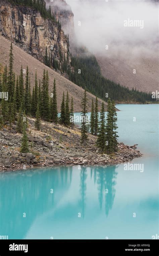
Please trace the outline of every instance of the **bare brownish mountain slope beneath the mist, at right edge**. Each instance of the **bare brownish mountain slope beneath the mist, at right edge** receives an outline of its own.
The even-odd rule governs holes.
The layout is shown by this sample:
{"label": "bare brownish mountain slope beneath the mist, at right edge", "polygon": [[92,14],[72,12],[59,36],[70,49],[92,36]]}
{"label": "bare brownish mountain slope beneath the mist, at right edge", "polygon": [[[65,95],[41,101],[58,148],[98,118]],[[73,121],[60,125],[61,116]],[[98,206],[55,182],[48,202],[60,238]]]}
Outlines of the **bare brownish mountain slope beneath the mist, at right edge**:
{"label": "bare brownish mountain slope beneath the mist, at right edge", "polygon": [[[121,59],[121,57],[109,58],[96,56],[101,67],[102,75],[115,83],[123,86],[133,87],[139,91],[156,91],[158,88],[159,66],[156,57],[132,57]],[[136,74],[133,74],[136,69]]]}

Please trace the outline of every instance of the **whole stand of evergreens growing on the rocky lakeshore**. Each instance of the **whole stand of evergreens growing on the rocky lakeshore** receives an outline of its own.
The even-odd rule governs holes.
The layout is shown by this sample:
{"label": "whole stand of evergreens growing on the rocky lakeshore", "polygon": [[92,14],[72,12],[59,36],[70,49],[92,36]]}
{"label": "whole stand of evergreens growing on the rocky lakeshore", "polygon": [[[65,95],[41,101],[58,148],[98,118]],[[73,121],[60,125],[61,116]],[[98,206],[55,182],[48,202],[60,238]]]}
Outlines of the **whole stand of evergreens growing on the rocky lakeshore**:
{"label": "whole stand of evergreens growing on the rocky lakeshore", "polygon": [[[9,66],[4,67],[4,72],[0,72],[0,91],[2,94],[0,99],[0,128],[9,123],[16,121],[16,130],[18,133],[23,133],[21,152],[29,152],[28,137],[26,129],[28,127],[27,116],[36,118],[35,128],[41,129],[41,120],[60,123],[66,127],[73,128],[74,113],[73,113],[73,98],[69,99],[68,91],[63,92],[61,102],[61,114],[58,118],[57,111],[57,94],[56,81],[54,79],[53,92],[49,95],[49,76],[48,71],[43,71],[42,81],[38,80],[37,73],[35,74],[35,85],[31,92],[31,83],[29,78],[29,69],[27,66],[26,72],[21,66],[19,76],[15,78],[13,70],[14,58],[12,43],[9,53]],[[25,74],[26,73],[26,74]],[[24,77],[25,74],[25,77]],[[5,94],[6,93],[6,94]],[[8,93],[8,95],[7,95]],[[98,99],[96,97],[95,108],[92,99],[91,122],[88,126],[88,99],[85,89],[84,97],[81,99],[82,109],[82,126],[81,126],[81,143],[88,143],[88,132],[98,137],[97,146],[102,152],[112,153],[117,151],[118,137],[115,130],[116,126],[116,109],[115,102],[108,100],[107,124],[105,124],[104,103],[100,113],[100,121],[98,116]],[[108,145],[107,145],[108,143]]]}

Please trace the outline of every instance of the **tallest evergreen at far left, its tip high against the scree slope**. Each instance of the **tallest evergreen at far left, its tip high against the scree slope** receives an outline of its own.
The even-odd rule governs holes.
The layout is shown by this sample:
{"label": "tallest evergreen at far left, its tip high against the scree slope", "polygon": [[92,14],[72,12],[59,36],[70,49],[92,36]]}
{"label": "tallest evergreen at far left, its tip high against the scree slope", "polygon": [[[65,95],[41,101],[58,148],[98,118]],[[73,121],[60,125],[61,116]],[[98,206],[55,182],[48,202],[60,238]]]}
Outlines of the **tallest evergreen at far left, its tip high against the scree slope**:
{"label": "tallest evergreen at far left, its tip high against the scree slope", "polygon": [[14,73],[13,73],[13,46],[12,46],[12,42],[11,42],[11,45],[10,45],[10,53],[9,53],[9,70],[8,70],[8,78],[7,78],[7,91],[8,91],[9,101],[13,102]]}

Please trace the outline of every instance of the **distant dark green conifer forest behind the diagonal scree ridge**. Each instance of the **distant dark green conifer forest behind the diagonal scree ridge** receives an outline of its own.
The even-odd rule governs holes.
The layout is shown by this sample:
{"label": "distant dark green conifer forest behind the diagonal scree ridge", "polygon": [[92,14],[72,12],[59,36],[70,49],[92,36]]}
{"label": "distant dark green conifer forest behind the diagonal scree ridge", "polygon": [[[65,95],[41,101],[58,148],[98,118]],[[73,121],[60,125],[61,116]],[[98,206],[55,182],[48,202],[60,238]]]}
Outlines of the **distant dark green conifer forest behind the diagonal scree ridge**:
{"label": "distant dark green conifer forest behind the diagonal scree ridge", "polygon": [[[107,98],[105,97],[106,93],[108,93],[109,97],[115,101],[135,101],[141,103],[144,103],[145,101],[155,101],[152,99],[151,93],[139,92],[135,89],[130,90],[128,87],[123,87],[104,78],[101,75],[98,62],[93,55],[87,57],[71,56],[71,65],[73,66],[74,71],[67,70],[69,80],[80,87],[87,87],[89,92],[104,101],[107,101]],[[78,74],[78,69],[81,69],[81,74]]]}

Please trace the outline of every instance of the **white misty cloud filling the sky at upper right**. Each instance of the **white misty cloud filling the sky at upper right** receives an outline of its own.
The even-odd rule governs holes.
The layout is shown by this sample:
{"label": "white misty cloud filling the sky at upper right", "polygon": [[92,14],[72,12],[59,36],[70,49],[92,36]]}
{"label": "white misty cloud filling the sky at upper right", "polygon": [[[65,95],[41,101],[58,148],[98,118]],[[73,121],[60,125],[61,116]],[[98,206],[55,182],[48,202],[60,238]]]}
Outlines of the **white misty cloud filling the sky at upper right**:
{"label": "white misty cloud filling the sky at upper right", "polygon": [[[80,45],[93,53],[154,54],[157,50],[158,8],[141,1],[66,0],[74,13]],[[139,20],[139,27],[124,27],[124,21]],[[81,26],[78,26],[79,21]],[[141,27],[141,28],[140,28]]]}

